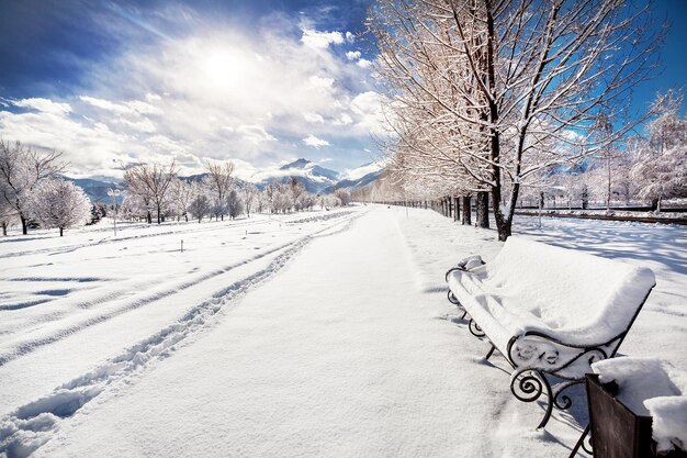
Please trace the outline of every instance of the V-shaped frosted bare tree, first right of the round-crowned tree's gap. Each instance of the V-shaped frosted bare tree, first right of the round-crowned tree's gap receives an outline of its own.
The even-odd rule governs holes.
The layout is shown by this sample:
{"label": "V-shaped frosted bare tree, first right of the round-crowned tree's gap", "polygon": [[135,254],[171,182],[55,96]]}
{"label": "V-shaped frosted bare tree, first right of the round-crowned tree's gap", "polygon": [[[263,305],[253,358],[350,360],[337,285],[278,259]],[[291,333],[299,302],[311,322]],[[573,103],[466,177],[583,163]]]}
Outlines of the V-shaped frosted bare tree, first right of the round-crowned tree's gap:
{"label": "V-shaped frosted bare tree, first right of the round-crowned tree's gap", "polygon": [[[146,204],[150,203],[157,213],[158,224],[162,222],[165,199],[169,197],[168,191],[176,175],[177,166],[173,159],[169,166],[142,164],[124,172],[126,189],[138,196]],[[148,212],[148,224],[151,222],[151,215]]]}

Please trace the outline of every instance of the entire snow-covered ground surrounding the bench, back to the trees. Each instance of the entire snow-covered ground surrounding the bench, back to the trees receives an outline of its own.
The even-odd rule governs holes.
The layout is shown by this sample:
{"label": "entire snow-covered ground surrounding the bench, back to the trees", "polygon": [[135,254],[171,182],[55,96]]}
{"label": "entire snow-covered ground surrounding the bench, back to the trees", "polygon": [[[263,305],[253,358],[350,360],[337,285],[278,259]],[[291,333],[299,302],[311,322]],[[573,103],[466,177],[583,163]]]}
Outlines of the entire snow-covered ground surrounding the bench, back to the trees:
{"label": "entire snow-covered ground surrounding the bench, back to the trees", "polygon": [[[620,353],[687,367],[684,227],[516,232],[652,268]],[[451,264],[499,247],[383,205],[2,238],[0,455],[566,456],[585,401],[536,431],[446,300]]]}

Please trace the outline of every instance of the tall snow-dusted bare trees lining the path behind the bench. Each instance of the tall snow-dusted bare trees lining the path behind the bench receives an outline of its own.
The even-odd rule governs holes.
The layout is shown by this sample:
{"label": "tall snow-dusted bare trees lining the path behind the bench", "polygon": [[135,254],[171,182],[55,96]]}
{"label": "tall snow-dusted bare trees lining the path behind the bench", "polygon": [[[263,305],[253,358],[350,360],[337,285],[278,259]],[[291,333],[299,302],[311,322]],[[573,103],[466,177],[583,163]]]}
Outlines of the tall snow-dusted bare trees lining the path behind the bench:
{"label": "tall snow-dusted bare trees lining the path behind the bench", "polygon": [[[522,193],[539,194],[554,170],[595,157],[612,179],[619,145],[655,114],[626,116],[664,37],[649,7],[633,8],[378,0],[368,25],[390,131],[387,182],[378,191],[477,196],[491,203],[503,241]],[[663,98],[655,104],[665,105]]]}

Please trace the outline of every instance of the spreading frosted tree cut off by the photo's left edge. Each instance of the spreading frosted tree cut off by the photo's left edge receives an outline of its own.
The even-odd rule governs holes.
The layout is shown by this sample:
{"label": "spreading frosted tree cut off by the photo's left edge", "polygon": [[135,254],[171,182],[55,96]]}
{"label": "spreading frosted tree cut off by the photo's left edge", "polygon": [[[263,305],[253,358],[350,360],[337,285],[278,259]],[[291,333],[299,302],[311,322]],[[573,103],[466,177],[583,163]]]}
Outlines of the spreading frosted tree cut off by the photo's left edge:
{"label": "spreading frosted tree cut off by the photo's left edge", "polygon": [[27,201],[34,188],[44,179],[61,172],[66,164],[60,160],[61,153],[55,150],[38,153],[20,142],[13,145],[0,138],[0,200],[16,212],[22,233],[27,233]]}

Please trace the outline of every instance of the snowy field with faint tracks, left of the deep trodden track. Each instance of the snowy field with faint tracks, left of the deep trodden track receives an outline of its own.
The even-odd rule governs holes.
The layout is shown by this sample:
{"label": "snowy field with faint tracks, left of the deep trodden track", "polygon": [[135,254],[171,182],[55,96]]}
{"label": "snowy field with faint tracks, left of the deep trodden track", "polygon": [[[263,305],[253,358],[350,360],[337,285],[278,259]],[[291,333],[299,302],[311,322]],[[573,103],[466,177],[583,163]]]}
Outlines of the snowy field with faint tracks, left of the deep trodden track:
{"label": "snowy field with faint tracks, left of the deep trodden track", "polygon": [[[83,373],[111,370],[103,369],[103,361],[122,358],[134,344],[159,339],[194,313],[211,313],[213,301],[246,291],[277,271],[313,234],[344,227],[354,215],[144,227],[105,239],[108,249],[77,242],[94,238],[98,231],[89,231],[54,241],[58,246],[47,255],[10,258],[0,273],[0,416]],[[299,223],[304,219],[309,221]],[[183,254],[173,249],[179,232],[187,233]],[[44,243],[32,241],[31,246]],[[65,252],[60,244],[71,248]],[[78,281],[85,278],[92,281]],[[61,295],[1,308],[55,291]],[[0,443],[2,436],[0,432]]]}

